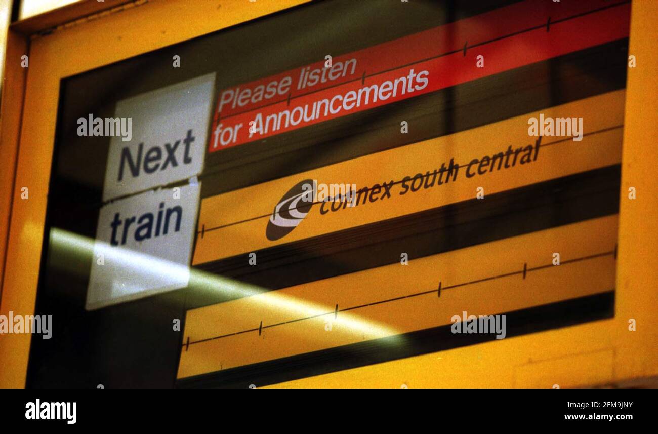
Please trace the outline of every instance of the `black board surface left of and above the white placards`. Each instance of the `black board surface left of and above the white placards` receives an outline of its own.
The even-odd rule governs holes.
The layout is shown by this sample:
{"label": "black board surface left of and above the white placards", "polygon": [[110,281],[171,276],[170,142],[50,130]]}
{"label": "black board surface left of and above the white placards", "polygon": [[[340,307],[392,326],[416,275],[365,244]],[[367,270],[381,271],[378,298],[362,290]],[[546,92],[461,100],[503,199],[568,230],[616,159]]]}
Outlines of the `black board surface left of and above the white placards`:
{"label": "black board surface left of and above the white placards", "polygon": [[[32,340],[27,387],[169,388],[176,378],[182,332],[172,330],[172,321],[184,320],[186,290],[86,312],[91,255],[70,256],[61,237],[51,238],[95,236],[109,138],[77,136],[78,118],[113,117],[121,99],[213,71],[215,101],[221,88],[307,65],[326,53],[349,53],[510,3],[314,2],[63,80],[36,300],[37,315],[53,315],[53,338]],[[181,68],[172,68],[174,55]],[[213,163],[209,159],[207,166]]]}

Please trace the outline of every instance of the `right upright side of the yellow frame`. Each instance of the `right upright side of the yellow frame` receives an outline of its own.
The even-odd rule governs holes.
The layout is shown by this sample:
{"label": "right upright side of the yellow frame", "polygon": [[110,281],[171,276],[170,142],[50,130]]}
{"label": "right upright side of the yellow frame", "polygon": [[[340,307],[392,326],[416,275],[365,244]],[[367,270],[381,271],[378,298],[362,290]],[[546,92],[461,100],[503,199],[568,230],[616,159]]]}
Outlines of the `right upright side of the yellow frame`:
{"label": "right upright side of the yellow frame", "polygon": [[[619,266],[615,310],[615,377],[632,378],[658,373],[658,2],[632,3],[629,55],[640,59],[628,69],[626,115],[619,219]],[[628,188],[636,188],[637,199],[628,198]],[[628,320],[638,323],[638,331],[628,333]]]}

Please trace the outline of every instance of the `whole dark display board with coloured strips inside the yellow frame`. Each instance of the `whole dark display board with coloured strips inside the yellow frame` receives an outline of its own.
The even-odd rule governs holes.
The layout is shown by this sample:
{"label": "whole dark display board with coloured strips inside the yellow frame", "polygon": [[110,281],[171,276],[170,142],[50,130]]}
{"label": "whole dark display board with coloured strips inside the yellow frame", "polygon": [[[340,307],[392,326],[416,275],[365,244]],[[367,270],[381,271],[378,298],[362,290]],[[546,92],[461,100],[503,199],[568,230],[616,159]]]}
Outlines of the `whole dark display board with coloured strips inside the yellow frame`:
{"label": "whole dark display board with coloured strips inside the yellow frame", "polygon": [[[37,311],[70,297],[71,324],[30,385],[260,387],[614,316],[630,2],[401,3],[63,80],[47,228],[91,248],[70,267],[49,240]],[[330,4],[354,34],[263,37]],[[130,134],[76,134],[88,107]]]}

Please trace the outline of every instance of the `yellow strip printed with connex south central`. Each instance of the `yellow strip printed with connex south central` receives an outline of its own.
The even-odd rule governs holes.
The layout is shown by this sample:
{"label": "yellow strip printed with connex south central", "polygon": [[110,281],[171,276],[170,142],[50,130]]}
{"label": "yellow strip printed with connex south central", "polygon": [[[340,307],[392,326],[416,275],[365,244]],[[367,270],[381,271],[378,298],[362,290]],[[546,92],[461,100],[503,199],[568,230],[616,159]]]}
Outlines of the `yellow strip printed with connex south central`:
{"label": "yellow strip printed with connex south central", "polygon": [[[538,145],[528,136],[528,119],[540,114],[582,116],[582,141],[544,136]],[[618,164],[623,116],[624,91],[619,90],[203,199],[193,265],[472,199],[479,187],[492,194]],[[515,155],[493,159],[509,149]],[[454,175],[428,174],[450,167],[451,160],[460,166]],[[434,181],[434,186],[413,191],[417,174],[428,174],[423,182]],[[331,202],[316,203],[290,234],[268,240],[266,227],[277,213],[272,209],[303,180],[368,190],[357,194],[351,207],[347,202],[335,208]]]}

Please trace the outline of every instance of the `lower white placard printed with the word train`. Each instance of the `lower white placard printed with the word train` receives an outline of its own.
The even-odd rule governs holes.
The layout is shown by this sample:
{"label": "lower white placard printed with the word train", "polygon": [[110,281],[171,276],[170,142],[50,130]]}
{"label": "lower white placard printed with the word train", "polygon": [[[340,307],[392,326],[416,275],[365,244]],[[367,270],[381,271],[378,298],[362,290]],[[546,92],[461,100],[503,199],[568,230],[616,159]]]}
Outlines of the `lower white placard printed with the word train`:
{"label": "lower white placard printed with the word train", "polygon": [[87,310],[188,286],[199,193],[190,184],[101,208]]}

